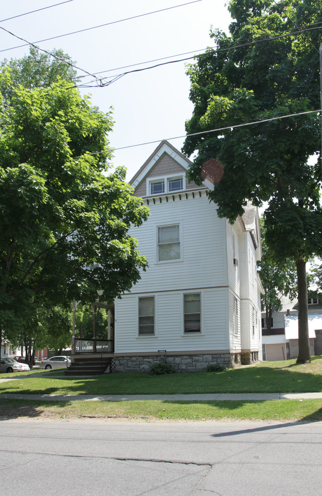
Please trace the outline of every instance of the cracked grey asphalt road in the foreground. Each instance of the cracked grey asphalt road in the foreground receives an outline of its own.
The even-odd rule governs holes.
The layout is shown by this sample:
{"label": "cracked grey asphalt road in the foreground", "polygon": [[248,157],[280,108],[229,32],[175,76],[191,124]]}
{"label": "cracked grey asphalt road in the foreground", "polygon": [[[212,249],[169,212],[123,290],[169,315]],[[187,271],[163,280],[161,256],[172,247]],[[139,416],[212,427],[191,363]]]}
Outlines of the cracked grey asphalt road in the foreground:
{"label": "cracked grey asphalt road in the foreground", "polygon": [[0,423],[1,494],[322,494],[322,423]]}

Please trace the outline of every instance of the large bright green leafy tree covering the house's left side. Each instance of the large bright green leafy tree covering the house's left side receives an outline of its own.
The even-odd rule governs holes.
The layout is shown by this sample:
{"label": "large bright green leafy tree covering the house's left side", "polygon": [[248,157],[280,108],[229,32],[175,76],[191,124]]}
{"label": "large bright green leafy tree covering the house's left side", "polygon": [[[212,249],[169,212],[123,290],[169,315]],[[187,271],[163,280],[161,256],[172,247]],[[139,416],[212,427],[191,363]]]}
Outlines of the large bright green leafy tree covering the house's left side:
{"label": "large bright green leafy tree covering the house's left side", "polygon": [[[13,90],[0,73],[0,88]],[[64,90],[14,87],[0,111],[0,327],[23,328],[47,306],[100,300],[129,291],[146,266],[128,234],[148,215],[125,182],[107,175],[112,158],[104,114]],[[101,153],[96,153],[100,151]],[[93,155],[91,155],[93,153]],[[87,266],[86,266],[87,264]],[[88,267],[92,270],[88,270]]]}

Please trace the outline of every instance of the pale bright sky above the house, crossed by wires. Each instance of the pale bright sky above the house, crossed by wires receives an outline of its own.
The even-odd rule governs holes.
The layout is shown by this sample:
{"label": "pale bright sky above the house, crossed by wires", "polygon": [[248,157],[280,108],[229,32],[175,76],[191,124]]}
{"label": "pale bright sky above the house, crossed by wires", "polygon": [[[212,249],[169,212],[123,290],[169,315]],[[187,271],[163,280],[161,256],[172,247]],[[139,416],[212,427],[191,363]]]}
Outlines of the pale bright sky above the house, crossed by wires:
{"label": "pale bright sky above the house, crossed by wires", "polygon": [[[0,18],[6,19],[60,1],[64,0],[2,1]],[[36,42],[186,1],[72,0],[3,21],[0,26],[30,42]],[[116,69],[102,73],[102,76],[111,78],[112,75],[135,68],[117,69],[121,66],[184,52],[199,53],[199,50],[211,46],[210,25],[228,31],[230,16],[225,3],[225,0],[201,0],[38,45],[45,50],[63,49],[77,62],[76,65],[90,73]],[[5,50],[0,52],[0,60],[19,58],[28,53],[28,47],[12,48],[21,44],[20,40],[0,30],[0,49]],[[154,63],[157,62],[139,67]],[[184,62],[168,64],[126,75],[107,87],[82,89],[81,92],[91,93],[93,104],[103,112],[114,107],[114,132],[109,136],[113,148],[162,140],[184,135],[185,120],[192,115],[190,82],[185,71]],[[83,72],[79,71],[79,74]],[[183,141],[177,139],[171,142],[180,149]],[[152,144],[115,151],[114,165],[125,165],[130,179],[156,146]]]}

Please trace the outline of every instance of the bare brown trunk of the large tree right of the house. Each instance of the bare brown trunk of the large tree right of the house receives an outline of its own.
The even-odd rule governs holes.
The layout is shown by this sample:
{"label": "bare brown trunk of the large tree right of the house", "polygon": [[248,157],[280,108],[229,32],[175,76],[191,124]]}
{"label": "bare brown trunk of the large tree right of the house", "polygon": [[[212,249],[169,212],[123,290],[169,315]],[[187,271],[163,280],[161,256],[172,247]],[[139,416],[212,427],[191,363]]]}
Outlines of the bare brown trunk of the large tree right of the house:
{"label": "bare brown trunk of the large tree right of the house", "polygon": [[296,260],[297,282],[298,282],[298,309],[299,309],[299,355],[297,364],[308,364],[311,362],[311,350],[309,340],[309,308],[308,287],[306,278],[306,262],[298,255]]}

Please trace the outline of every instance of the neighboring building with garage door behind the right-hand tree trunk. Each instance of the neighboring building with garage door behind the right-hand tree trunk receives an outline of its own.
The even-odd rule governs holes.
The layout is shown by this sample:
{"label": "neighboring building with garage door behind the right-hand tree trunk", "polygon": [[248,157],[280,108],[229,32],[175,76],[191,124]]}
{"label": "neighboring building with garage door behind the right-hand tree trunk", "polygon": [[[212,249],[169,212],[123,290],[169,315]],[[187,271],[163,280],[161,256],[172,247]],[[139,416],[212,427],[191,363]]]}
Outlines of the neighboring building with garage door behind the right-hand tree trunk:
{"label": "neighboring building with garage door behind the right-hand tree trunk", "polygon": [[[263,360],[297,358],[298,302],[281,297],[282,308],[272,313],[270,333],[267,333],[266,314],[261,314]],[[322,355],[322,302],[309,299],[309,339],[311,355]]]}

